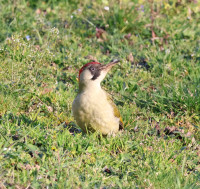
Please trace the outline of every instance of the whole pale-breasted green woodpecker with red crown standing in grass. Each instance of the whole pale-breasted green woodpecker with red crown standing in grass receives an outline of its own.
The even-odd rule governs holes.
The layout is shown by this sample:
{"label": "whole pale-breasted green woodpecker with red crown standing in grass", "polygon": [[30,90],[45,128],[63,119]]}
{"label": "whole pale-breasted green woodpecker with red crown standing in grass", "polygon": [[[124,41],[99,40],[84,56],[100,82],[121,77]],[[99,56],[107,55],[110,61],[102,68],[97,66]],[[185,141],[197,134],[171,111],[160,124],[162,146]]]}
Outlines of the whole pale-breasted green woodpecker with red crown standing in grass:
{"label": "whole pale-breasted green woodpecker with red crown standing in grass", "polygon": [[119,60],[108,64],[89,62],[79,70],[79,90],[72,104],[72,113],[84,133],[115,135],[123,129],[120,112],[101,82]]}

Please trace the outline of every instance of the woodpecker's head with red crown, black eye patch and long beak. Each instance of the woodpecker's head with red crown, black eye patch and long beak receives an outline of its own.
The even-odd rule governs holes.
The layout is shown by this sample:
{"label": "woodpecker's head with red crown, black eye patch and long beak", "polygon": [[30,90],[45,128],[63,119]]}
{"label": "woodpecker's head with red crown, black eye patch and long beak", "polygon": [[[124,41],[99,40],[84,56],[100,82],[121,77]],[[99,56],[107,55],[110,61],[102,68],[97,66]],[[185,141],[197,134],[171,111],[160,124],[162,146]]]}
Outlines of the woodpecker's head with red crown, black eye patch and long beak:
{"label": "woodpecker's head with red crown, black eye patch and long beak", "polygon": [[99,62],[89,62],[85,64],[79,70],[79,85],[100,85],[108,71],[118,62],[118,60],[114,60],[106,65]]}

